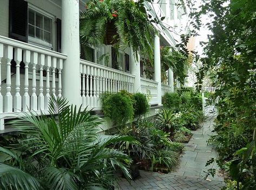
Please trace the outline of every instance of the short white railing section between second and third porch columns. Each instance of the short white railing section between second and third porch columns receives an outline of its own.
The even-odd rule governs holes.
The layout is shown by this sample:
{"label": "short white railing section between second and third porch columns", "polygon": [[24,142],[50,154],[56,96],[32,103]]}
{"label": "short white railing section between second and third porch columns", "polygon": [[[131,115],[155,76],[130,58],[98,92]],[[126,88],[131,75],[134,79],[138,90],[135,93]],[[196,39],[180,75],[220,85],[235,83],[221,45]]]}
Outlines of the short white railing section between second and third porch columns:
{"label": "short white railing section between second and third porch columns", "polygon": [[157,102],[157,82],[147,78],[141,78],[141,92],[146,94],[150,104],[158,104]]}

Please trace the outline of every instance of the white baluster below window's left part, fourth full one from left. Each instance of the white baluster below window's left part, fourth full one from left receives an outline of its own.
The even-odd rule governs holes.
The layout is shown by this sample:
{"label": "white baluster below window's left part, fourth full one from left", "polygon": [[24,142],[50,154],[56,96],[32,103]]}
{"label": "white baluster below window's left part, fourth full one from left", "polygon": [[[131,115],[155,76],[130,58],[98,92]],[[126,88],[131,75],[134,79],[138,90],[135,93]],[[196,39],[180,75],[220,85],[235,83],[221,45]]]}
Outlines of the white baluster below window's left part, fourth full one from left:
{"label": "white baluster below window's left part, fourth full one from left", "polygon": [[37,96],[36,96],[36,65],[38,63],[38,53],[33,52],[31,55],[32,63],[32,94],[31,94],[31,110],[37,111]]}

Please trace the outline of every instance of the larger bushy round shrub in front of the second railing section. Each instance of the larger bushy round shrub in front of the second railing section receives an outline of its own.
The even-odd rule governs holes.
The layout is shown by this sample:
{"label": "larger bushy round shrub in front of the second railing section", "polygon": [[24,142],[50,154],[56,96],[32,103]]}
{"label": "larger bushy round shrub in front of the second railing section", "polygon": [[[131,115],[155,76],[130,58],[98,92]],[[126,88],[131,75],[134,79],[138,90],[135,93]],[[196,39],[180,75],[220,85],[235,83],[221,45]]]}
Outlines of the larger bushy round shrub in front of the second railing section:
{"label": "larger bushy round shrub in front of the second railing section", "polygon": [[110,118],[114,124],[123,125],[127,121],[133,121],[134,101],[128,92],[103,93],[101,100],[104,116]]}

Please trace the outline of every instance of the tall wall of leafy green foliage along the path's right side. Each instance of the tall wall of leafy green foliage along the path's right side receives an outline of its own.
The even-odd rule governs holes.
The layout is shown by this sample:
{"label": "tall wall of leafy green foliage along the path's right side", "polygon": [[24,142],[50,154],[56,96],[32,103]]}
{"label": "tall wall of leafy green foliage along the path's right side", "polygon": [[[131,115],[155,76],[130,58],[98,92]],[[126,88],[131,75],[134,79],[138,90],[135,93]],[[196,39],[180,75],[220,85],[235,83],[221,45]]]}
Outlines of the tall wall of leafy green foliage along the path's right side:
{"label": "tall wall of leafy green foliage along the path's right side", "polygon": [[[229,167],[231,178],[242,189],[256,188],[256,4],[253,0],[202,1],[193,9],[193,25],[199,28],[201,16],[212,18],[212,31],[205,44],[202,67],[197,73],[198,87],[211,71],[213,94],[219,115],[211,138],[220,153],[220,163]],[[196,11],[194,11],[196,10]],[[194,31],[194,33],[196,33]]]}

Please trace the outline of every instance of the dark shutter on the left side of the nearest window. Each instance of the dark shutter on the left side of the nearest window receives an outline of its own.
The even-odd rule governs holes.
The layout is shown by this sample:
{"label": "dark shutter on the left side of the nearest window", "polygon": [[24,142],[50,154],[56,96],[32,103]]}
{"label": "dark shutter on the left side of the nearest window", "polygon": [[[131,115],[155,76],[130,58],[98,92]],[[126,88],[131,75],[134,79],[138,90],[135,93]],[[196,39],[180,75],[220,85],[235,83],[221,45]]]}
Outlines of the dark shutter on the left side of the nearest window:
{"label": "dark shutter on the left side of the nearest window", "polygon": [[28,2],[9,0],[9,37],[28,42]]}

